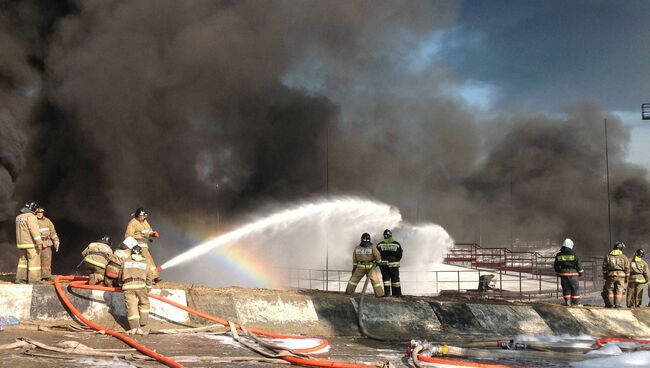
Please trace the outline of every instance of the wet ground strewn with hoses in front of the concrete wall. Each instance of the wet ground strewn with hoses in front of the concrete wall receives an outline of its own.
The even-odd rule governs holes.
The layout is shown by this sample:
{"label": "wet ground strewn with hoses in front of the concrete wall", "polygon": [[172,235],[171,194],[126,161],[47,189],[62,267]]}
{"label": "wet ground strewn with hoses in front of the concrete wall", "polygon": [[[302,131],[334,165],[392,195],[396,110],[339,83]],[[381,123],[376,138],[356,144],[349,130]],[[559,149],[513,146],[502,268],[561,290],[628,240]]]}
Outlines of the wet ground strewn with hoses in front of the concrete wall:
{"label": "wet ground strewn with hoses in front of the concrete wall", "polygon": [[[0,332],[0,345],[15,342],[17,338],[26,337],[38,342],[56,346],[62,341],[76,341],[96,349],[128,349],[125,343],[114,337],[95,332],[37,331],[35,326],[9,327]],[[216,333],[151,334],[138,336],[138,342],[168,357],[179,358],[187,367],[280,367],[287,366],[281,362],[257,362],[259,354],[234,341],[230,335]],[[354,363],[374,364],[390,362],[395,367],[414,367],[410,359],[404,356],[407,342],[379,342],[366,338],[337,337],[329,339],[329,351],[313,355],[317,359],[335,360]],[[31,353],[44,356],[28,355],[20,349],[0,350],[0,367],[161,367],[154,361],[128,361],[117,358],[98,358],[83,355],[62,354],[42,349]],[[496,351],[495,351],[496,352]],[[128,353],[128,352],[121,352]],[[135,353],[135,352],[134,352]],[[199,361],[197,357],[216,357],[211,361]],[[245,359],[233,362],[232,359]],[[246,359],[249,358],[249,359]],[[511,364],[527,367],[567,367],[567,361],[552,362],[548,360],[508,359],[483,360],[489,363]]]}

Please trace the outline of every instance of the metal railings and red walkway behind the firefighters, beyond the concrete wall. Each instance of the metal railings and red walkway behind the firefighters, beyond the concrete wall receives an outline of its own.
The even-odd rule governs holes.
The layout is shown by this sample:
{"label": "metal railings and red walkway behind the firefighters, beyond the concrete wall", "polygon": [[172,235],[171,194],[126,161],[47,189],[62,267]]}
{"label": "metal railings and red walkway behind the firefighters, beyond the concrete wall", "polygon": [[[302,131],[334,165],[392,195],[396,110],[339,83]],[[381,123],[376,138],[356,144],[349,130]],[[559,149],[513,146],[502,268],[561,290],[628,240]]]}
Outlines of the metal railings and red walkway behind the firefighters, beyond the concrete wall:
{"label": "metal railings and red walkway behind the firefighters, beyond the concrete wall", "polygon": [[[582,292],[602,288],[602,259],[585,257],[580,277]],[[503,299],[540,299],[561,296],[559,278],[553,270],[555,257],[537,252],[513,252],[507,248],[483,248],[477,244],[457,244],[449,250],[445,263],[463,266],[463,270],[400,270],[402,292],[406,295],[477,293],[481,276],[494,275],[495,288],[486,297]],[[286,288],[319,289],[343,292],[350,270],[277,269]],[[375,270],[379,272],[379,270]],[[380,276],[381,277],[381,276]],[[361,285],[357,287],[357,292]],[[372,287],[366,290],[372,293]]]}

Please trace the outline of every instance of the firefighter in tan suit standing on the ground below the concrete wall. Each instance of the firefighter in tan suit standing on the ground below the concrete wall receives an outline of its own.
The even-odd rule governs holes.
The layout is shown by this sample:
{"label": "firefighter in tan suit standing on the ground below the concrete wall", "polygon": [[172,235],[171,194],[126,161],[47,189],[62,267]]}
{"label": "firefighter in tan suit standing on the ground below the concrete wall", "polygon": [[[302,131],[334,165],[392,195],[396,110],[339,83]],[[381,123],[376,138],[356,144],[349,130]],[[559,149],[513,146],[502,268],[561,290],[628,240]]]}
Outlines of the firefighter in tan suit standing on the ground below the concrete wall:
{"label": "firefighter in tan suit standing on the ground below the concrete wall", "polygon": [[143,249],[139,245],[134,246],[122,265],[120,275],[129,321],[127,334],[146,334],[143,327],[149,321],[150,303],[147,293],[151,288],[152,276],[153,273],[149,268],[149,262],[143,255]]}

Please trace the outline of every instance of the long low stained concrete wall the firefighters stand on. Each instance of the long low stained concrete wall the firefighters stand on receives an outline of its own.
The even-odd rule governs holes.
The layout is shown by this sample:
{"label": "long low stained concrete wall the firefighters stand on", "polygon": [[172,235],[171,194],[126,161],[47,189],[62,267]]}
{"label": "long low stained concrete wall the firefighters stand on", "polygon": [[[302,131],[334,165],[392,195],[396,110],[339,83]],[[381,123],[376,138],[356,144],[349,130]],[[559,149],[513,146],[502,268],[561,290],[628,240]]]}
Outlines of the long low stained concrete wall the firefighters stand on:
{"label": "long low stained concrete wall the firefighters stand on", "polygon": [[[116,325],[126,311],[121,293],[67,290],[88,318]],[[250,289],[168,290],[154,292],[218,318],[284,333],[313,336],[359,335],[358,295]],[[157,300],[152,317],[173,325],[212,323]],[[68,320],[54,287],[0,284],[0,316],[21,320]],[[444,301],[434,298],[367,297],[363,318],[374,335],[391,339],[511,338],[526,335],[650,337],[650,308],[635,310],[564,307],[547,303]]]}

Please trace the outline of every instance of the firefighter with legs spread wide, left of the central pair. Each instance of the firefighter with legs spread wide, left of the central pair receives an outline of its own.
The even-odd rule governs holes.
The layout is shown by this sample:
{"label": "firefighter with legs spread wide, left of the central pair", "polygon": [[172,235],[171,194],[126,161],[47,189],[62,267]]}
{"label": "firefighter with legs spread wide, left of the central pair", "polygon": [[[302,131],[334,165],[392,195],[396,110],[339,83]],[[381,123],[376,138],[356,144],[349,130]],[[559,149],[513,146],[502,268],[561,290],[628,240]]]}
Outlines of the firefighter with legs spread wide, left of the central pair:
{"label": "firefighter with legs spread wide, left of the central pair", "polygon": [[352,252],[352,276],[348,281],[348,287],[345,293],[351,295],[357,288],[357,284],[365,275],[370,278],[372,287],[375,290],[375,296],[384,296],[384,291],[381,288],[381,281],[377,272],[374,272],[374,267],[377,262],[381,261],[381,256],[377,247],[370,241],[370,234],[363,233],[361,235],[361,243],[354,248]]}

